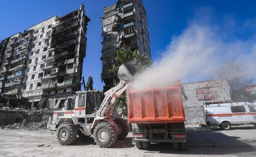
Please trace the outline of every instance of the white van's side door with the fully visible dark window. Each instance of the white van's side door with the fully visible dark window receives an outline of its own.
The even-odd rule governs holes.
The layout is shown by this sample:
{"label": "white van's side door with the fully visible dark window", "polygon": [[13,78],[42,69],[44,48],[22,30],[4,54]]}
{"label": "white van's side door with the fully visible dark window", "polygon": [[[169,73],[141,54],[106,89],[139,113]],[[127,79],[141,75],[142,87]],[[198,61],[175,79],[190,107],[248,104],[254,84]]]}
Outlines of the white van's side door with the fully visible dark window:
{"label": "white van's side door with the fully visible dark window", "polygon": [[232,124],[249,124],[249,116],[244,106],[230,106],[232,112]]}

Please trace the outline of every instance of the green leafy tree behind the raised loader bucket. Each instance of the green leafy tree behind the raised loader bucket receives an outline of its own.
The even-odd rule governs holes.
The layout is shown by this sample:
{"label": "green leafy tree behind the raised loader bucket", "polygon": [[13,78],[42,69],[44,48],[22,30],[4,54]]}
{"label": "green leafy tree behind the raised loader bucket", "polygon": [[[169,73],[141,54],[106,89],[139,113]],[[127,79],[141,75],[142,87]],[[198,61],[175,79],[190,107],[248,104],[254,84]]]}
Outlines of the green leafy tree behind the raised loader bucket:
{"label": "green leafy tree behind the raised loader bucket", "polygon": [[[131,49],[120,49],[116,52],[115,64],[109,70],[115,77],[115,85],[119,83],[117,77],[118,68],[124,63],[131,63],[138,71],[143,71],[152,64],[152,61],[146,55],[141,55],[139,52]],[[126,92],[124,92],[115,103],[115,109],[122,109],[121,115],[127,116],[127,100]]]}

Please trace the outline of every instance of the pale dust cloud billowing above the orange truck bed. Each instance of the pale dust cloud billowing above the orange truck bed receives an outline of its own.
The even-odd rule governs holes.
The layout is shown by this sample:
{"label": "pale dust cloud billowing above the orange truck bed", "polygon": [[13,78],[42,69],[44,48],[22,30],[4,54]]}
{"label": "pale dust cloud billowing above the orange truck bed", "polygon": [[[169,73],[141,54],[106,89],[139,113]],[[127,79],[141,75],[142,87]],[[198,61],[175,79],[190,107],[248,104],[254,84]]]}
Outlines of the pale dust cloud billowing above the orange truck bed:
{"label": "pale dust cloud billowing above the orange truck bed", "polygon": [[171,87],[182,82],[205,81],[226,61],[241,62],[248,77],[255,78],[256,42],[232,41],[210,26],[191,24],[174,36],[153,65],[135,76],[130,90]]}

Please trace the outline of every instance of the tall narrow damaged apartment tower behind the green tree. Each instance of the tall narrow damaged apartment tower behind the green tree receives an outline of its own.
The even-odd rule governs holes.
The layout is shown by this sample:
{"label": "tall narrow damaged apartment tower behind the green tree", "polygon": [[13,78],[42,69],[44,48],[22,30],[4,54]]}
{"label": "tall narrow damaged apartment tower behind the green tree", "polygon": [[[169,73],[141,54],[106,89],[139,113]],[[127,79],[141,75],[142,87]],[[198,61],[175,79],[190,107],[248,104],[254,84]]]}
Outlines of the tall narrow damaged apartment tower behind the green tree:
{"label": "tall narrow damaged apartment tower behind the green tree", "polygon": [[115,53],[121,48],[137,50],[151,59],[147,26],[147,13],[141,0],[118,0],[116,4],[104,8],[103,48],[101,79],[109,90],[116,79],[109,70],[115,60]]}

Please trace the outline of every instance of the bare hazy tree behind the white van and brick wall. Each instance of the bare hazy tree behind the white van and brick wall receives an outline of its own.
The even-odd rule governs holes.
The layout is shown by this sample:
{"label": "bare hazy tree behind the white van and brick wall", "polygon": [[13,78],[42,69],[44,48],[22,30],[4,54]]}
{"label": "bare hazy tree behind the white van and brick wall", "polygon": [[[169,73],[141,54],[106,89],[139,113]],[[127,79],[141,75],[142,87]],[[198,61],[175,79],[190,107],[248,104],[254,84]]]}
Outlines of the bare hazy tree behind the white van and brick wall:
{"label": "bare hazy tree behind the white van and brick wall", "polygon": [[247,78],[241,63],[228,61],[218,68],[216,76],[227,79],[232,101],[239,102],[246,100],[247,92],[245,88],[252,83],[252,79]]}

